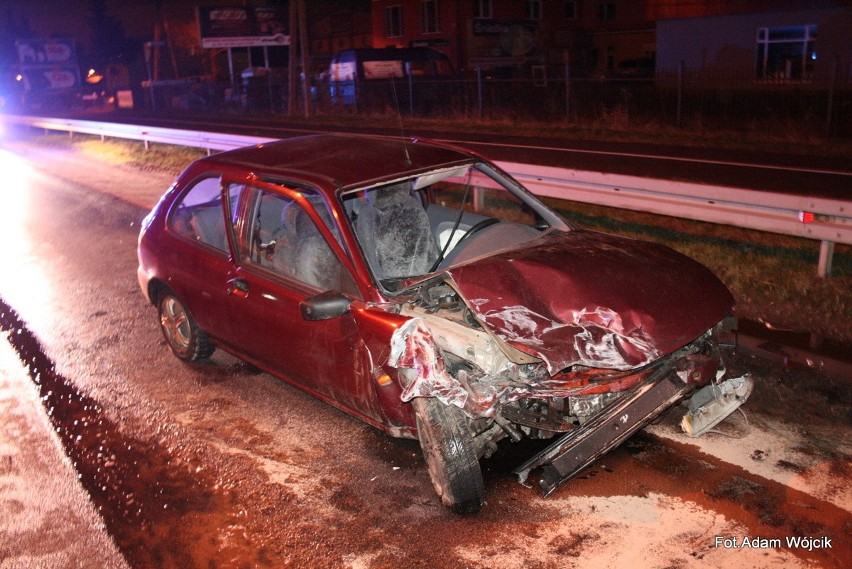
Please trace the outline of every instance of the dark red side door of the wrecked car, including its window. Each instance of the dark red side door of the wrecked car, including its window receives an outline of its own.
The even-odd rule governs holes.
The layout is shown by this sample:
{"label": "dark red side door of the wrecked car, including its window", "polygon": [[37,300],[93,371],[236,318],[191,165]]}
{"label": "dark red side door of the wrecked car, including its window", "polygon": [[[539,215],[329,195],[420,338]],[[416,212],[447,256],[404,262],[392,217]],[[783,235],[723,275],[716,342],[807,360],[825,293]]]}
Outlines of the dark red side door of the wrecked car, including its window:
{"label": "dark red side door of the wrecked car, including its window", "polygon": [[[226,188],[238,183],[225,180]],[[326,204],[305,190],[260,182],[244,191],[228,302],[240,351],[336,406],[379,419],[369,354],[352,316],[308,321],[301,312],[305,299],[329,290],[360,297],[338,240],[311,217],[313,210],[333,228]]]}

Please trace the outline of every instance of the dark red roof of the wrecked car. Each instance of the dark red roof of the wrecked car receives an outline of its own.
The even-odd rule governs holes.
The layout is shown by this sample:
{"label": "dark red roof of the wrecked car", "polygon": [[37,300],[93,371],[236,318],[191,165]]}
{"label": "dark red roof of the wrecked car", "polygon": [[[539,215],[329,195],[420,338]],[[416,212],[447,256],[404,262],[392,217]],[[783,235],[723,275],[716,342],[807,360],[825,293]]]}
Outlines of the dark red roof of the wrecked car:
{"label": "dark red roof of the wrecked car", "polygon": [[260,177],[281,177],[334,191],[458,164],[474,156],[461,148],[418,139],[317,134],[230,150],[201,162],[249,168]]}

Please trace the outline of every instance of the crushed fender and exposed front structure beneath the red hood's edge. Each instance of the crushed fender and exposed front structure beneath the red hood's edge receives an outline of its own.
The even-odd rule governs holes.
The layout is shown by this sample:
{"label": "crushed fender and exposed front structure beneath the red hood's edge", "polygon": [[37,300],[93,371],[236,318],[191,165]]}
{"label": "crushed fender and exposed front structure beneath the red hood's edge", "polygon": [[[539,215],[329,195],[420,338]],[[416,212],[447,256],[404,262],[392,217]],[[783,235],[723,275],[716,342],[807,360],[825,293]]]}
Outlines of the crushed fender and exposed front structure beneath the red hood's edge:
{"label": "crushed fender and exposed front structure beneath the red hood's edge", "polygon": [[[635,368],[575,365],[551,374],[543,360],[514,350],[488,329],[469,327],[464,319],[470,316],[463,314],[414,305],[402,308],[401,315],[410,319],[393,334],[388,365],[408,370],[403,401],[435,397],[473,419],[508,414],[539,425],[543,419],[530,411],[529,400],[564,400],[564,420],[582,423],[663,364],[693,388],[724,374],[714,329],[668,357]],[[522,416],[530,418],[524,421]]]}

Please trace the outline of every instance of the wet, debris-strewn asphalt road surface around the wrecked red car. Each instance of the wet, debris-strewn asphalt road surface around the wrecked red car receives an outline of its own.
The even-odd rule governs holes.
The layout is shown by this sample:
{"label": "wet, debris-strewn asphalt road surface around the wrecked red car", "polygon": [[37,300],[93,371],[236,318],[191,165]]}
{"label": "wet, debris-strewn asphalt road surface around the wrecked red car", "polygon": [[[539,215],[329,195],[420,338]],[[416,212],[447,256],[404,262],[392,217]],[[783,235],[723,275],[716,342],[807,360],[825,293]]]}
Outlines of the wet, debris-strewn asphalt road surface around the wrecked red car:
{"label": "wet, debris-strewn asphalt road surface around the wrecked red car", "polygon": [[[847,566],[846,380],[731,354],[732,372],[755,378],[748,423],[692,440],[675,409],[547,499],[510,474],[533,446],[507,442],[483,463],[482,513],[458,517],[416,443],[220,352],[202,365],[170,355],[138,290],[135,242],[171,175],[26,144],[0,158],[3,353],[23,362],[0,358],[0,378],[32,382],[32,413],[74,465],[26,468],[4,415],[0,488],[76,472],[68,483],[131,566]],[[0,511],[22,507],[10,500],[0,492]],[[39,537],[62,523],[4,519],[4,568],[40,559]],[[71,552],[80,539],[60,541]]]}

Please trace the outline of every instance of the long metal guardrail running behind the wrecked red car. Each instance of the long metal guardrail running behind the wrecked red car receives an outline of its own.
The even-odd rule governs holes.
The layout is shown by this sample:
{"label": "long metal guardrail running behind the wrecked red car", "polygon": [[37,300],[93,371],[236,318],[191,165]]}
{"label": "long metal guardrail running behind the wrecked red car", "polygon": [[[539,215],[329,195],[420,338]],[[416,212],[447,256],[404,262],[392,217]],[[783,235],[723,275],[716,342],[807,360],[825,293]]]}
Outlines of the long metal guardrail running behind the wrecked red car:
{"label": "long metal guardrail running behind the wrecked red car", "polygon": [[[8,123],[69,133],[231,150],[274,139],[139,125],[4,115]],[[820,241],[817,272],[831,274],[834,244],[852,244],[852,201],[498,162],[539,196],[644,211]]]}

